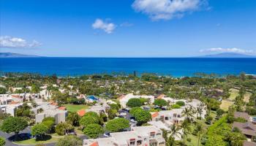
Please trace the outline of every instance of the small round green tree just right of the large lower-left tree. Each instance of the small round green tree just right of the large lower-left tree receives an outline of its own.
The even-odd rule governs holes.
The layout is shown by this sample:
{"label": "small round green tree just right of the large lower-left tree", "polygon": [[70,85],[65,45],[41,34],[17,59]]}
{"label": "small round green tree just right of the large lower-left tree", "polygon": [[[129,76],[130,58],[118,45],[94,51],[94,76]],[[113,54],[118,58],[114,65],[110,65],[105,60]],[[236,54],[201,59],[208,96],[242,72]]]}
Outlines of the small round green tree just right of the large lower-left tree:
{"label": "small round green tree just right of the large lower-left tree", "polygon": [[48,127],[43,123],[38,123],[31,128],[31,135],[37,137],[37,139],[43,139],[47,133]]}

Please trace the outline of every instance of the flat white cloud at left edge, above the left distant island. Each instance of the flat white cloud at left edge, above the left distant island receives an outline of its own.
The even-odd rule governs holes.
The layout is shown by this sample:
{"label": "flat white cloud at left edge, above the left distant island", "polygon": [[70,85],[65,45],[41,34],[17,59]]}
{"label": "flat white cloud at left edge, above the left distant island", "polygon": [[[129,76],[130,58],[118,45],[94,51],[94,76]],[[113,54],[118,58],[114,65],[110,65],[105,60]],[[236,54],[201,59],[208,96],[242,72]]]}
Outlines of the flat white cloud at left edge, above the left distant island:
{"label": "flat white cloud at left edge, above the left distant island", "polygon": [[27,42],[25,39],[10,36],[0,37],[0,47],[12,47],[12,48],[31,48],[38,47],[42,45],[41,43],[33,40],[32,42]]}

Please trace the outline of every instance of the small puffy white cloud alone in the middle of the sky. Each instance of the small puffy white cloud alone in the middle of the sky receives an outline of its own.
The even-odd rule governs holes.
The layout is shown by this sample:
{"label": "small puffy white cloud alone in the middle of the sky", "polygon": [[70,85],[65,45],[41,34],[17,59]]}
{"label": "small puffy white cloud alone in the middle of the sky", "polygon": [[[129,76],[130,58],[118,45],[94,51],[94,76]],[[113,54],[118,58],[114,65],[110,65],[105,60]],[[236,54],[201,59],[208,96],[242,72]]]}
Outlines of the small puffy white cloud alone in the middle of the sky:
{"label": "small puffy white cloud alone in the middle of the sky", "polygon": [[96,19],[95,22],[91,26],[94,29],[102,29],[103,31],[105,31],[108,34],[111,34],[114,31],[114,29],[116,28],[114,23],[107,23],[101,19]]}

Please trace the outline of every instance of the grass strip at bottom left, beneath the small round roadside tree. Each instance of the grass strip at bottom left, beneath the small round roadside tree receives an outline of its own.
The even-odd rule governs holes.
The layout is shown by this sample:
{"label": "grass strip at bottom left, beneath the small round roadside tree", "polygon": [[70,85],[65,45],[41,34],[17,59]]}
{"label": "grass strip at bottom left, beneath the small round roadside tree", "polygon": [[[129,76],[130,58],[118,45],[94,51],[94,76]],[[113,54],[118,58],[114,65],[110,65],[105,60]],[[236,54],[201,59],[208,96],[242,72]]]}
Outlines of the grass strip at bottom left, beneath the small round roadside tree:
{"label": "grass strip at bottom left, beneath the small round roadside tree", "polygon": [[22,141],[13,142],[18,145],[37,145],[37,144],[46,144],[46,143],[52,143],[57,142],[58,138],[56,137],[48,137],[48,139],[36,141],[35,139],[27,139]]}

